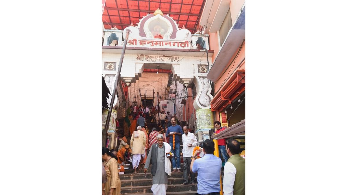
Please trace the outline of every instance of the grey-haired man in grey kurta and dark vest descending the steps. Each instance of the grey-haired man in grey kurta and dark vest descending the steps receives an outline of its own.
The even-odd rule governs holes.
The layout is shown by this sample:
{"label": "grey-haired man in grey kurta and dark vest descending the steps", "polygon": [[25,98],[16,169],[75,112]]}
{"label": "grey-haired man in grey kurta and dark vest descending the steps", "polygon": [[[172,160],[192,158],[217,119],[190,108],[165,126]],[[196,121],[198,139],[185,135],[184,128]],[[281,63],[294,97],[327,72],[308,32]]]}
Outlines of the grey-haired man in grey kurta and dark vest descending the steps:
{"label": "grey-haired man in grey kurta and dark vest descending the steps", "polygon": [[165,146],[164,136],[162,134],[158,134],[157,136],[158,143],[153,144],[150,152],[148,153],[144,172],[147,172],[147,169],[150,166],[150,162],[152,162],[152,192],[153,195],[165,195],[167,184],[168,184],[168,174],[165,172]]}

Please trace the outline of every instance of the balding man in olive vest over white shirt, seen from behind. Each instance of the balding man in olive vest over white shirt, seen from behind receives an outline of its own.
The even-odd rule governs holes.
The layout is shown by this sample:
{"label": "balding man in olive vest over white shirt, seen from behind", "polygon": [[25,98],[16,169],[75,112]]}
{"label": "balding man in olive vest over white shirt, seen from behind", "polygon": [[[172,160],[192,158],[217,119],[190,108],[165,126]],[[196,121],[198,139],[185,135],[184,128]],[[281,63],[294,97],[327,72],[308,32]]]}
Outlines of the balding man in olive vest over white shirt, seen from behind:
{"label": "balding man in olive vest over white shirt, seen from behind", "polygon": [[229,139],[226,145],[230,156],[224,166],[224,195],[245,195],[245,159],[240,156],[240,143]]}

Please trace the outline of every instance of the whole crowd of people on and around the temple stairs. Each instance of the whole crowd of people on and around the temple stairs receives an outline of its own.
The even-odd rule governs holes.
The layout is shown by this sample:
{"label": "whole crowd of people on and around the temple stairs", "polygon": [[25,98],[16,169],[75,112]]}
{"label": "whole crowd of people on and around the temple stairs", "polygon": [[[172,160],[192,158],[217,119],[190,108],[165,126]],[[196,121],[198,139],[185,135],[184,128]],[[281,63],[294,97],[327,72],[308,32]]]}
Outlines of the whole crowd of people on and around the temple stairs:
{"label": "whole crowd of people on and around the temple stairs", "polygon": [[[120,141],[118,151],[108,148],[102,149],[103,177],[102,193],[106,195],[120,194],[120,179],[118,176],[118,164],[132,162],[134,173],[138,169],[147,169],[150,164],[152,175],[152,192],[154,195],[166,194],[168,176],[171,173],[181,171],[181,156],[183,157],[183,184],[197,183],[197,194],[219,194],[220,173],[222,160],[225,162],[223,177],[223,193],[225,195],[245,194],[245,159],[240,153],[240,143],[236,139],[218,139],[219,156],[213,155],[215,143],[206,139],[202,149],[198,146],[197,139],[188,126],[179,125],[176,114],[161,111],[158,116],[158,108],[141,105],[132,106],[127,110],[128,132]],[[160,122],[159,129],[152,128],[150,134],[146,132],[146,119],[157,118]],[[224,130],[219,121],[214,122],[215,133]],[[130,136],[130,143],[127,136]],[[180,153],[180,145],[183,145]],[[195,150],[197,148],[197,150]],[[144,166],[144,167],[142,167]]]}

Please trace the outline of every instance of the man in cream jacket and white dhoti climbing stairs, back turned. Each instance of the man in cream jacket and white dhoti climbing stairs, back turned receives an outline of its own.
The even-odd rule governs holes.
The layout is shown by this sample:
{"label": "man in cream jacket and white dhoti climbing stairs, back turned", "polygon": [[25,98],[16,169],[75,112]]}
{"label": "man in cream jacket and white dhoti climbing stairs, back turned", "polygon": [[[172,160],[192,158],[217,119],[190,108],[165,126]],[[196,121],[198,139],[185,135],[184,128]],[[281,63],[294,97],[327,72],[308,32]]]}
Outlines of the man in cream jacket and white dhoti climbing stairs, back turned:
{"label": "man in cream jacket and white dhoti climbing stairs, back turned", "polygon": [[133,169],[134,173],[137,173],[137,167],[140,164],[141,156],[145,158],[145,145],[146,145],[146,135],[141,131],[141,126],[137,127],[130,139],[130,147],[133,150]]}

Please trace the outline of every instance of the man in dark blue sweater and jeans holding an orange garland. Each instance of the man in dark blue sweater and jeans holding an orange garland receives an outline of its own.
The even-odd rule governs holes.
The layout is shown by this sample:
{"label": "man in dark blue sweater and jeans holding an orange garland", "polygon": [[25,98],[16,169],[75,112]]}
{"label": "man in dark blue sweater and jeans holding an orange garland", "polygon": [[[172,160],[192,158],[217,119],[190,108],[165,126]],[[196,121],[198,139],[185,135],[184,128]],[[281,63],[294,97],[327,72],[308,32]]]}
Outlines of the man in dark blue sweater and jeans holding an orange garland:
{"label": "man in dark blue sweater and jeans holding an orange garland", "polygon": [[[175,150],[173,149],[174,146],[174,139],[173,136],[175,134]],[[182,127],[179,125],[176,125],[176,119],[171,118],[171,126],[168,127],[168,130],[166,131],[166,137],[170,137],[170,146],[171,146],[171,153],[174,154],[174,158],[171,159],[172,167],[173,167],[173,173],[175,172],[181,172],[181,156],[179,155],[179,147],[180,147],[180,137],[183,134]]]}

